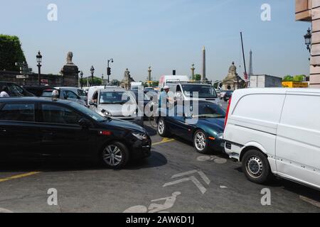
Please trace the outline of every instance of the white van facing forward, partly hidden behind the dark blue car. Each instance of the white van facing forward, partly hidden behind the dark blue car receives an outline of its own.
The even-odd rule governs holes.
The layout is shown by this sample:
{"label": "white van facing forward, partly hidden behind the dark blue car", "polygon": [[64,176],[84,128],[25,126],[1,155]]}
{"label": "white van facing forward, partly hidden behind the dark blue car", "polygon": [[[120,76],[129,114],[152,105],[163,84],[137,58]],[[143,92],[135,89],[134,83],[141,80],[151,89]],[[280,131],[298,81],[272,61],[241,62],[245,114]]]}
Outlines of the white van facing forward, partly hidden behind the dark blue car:
{"label": "white van facing forward, partly hidden behind the dark blue car", "polygon": [[211,84],[194,84],[188,82],[167,83],[170,92],[174,93],[176,101],[210,101],[219,104],[220,100]]}

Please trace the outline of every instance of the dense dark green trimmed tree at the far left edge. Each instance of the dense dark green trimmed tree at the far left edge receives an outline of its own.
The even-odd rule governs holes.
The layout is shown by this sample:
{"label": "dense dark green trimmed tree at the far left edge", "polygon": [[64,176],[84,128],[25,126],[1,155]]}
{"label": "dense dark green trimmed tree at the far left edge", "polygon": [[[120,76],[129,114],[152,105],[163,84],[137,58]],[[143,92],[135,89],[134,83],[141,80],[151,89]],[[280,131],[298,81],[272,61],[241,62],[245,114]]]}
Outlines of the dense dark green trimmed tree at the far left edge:
{"label": "dense dark green trimmed tree at the far left edge", "polygon": [[16,62],[26,62],[19,38],[0,34],[0,70],[19,71]]}

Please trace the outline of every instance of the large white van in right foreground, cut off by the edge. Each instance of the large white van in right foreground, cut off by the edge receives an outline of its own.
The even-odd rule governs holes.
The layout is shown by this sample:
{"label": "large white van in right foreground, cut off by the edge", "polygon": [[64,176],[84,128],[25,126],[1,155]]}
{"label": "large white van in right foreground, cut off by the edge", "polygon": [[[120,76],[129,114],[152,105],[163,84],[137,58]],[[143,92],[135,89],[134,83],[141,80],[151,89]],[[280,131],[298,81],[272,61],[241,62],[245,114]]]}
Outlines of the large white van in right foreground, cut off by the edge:
{"label": "large white van in right foreground, cut off by the edge", "polygon": [[320,189],[320,89],[240,89],[230,100],[225,152],[247,179],[273,175]]}

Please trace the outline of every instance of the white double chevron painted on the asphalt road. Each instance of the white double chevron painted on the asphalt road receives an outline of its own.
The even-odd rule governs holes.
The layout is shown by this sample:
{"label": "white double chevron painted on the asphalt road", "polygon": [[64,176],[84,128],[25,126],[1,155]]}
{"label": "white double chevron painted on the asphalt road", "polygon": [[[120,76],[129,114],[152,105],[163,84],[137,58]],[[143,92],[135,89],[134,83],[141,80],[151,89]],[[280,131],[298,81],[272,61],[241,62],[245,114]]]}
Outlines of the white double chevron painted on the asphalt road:
{"label": "white double chevron painted on the asphalt road", "polygon": [[[183,176],[186,176],[186,175],[193,175],[195,173],[198,173],[198,175],[200,175],[200,177],[203,179],[204,182],[206,182],[206,184],[208,184],[208,185],[210,184],[210,179],[208,179],[208,177],[200,170],[191,170],[191,171],[188,171],[188,172],[183,172],[181,174],[172,176],[171,179],[177,178],[177,177],[183,177]],[[205,194],[207,192],[206,187],[203,187],[203,184],[201,184],[201,182],[199,182],[199,180],[196,179],[196,177],[194,177],[194,176],[186,177],[186,178],[183,178],[183,179],[178,179],[178,180],[176,180],[174,182],[166,183],[166,184],[164,184],[163,187],[171,186],[171,185],[174,185],[174,184],[181,184],[182,182],[188,182],[188,181],[192,181],[193,184],[196,184],[196,187],[198,187],[198,189],[200,190],[200,192],[202,194]]]}

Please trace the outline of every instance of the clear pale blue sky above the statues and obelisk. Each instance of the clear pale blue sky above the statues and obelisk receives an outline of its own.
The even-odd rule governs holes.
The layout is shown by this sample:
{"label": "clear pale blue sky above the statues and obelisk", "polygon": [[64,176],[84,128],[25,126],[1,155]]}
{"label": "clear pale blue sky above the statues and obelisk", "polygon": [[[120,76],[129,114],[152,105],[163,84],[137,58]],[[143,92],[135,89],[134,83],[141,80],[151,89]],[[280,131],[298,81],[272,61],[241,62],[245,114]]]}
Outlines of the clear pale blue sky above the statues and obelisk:
{"label": "clear pale blue sky above the statues and obelisk", "polygon": [[[58,73],[68,51],[73,62],[90,74],[106,74],[114,58],[112,79],[144,80],[149,65],[161,74],[201,73],[201,50],[207,50],[207,76],[222,79],[235,61],[240,65],[240,31],[247,63],[253,51],[255,74],[308,74],[309,53],[303,35],[309,23],[294,20],[294,0],[28,0],[1,1],[0,33],[18,35],[28,64],[36,71],[43,53],[43,72]],[[58,21],[47,20],[50,3]],[[260,19],[270,4],[272,21]],[[243,69],[239,70],[242,75]]]}

